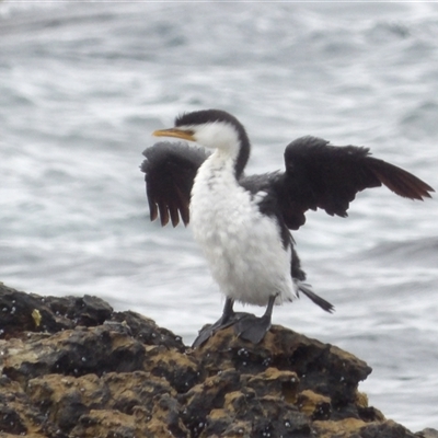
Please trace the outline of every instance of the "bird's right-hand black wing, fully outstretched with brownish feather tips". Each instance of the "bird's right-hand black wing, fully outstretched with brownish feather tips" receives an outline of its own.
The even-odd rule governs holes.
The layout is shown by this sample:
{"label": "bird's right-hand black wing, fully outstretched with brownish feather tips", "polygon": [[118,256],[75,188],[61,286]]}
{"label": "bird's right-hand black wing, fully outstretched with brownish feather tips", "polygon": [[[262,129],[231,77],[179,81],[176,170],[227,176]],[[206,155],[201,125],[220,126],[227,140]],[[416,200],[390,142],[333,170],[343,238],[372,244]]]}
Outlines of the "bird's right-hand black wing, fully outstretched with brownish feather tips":
{"label": "bird's right-hand black wing, fully outstretched with brownish feather tips", "polygon": [[430,197],[434,189],[425,182],[383,160],[368,148],[335,147],[315,137],[292,141],[285,151],[286,172],[275,182],[284,220],[297,230],[307,210],[324,209],[331,216],[346,217],[358,192],[382,184],[410,198]]}

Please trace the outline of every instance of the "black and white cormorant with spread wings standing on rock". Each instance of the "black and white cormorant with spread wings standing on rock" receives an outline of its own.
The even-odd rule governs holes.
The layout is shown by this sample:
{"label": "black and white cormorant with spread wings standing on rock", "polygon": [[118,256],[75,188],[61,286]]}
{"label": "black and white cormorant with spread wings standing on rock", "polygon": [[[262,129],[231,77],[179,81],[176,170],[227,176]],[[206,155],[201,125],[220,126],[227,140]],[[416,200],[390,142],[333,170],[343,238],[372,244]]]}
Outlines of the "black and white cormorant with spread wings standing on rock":
{"label": "black and white cormorant with spread wings standing on rock", "polygon": [[[203,328],[194,346],[234,325],[244,339],[258,343],[270,327],[274,304],[303,292],[327,312],[333,306],[304,283],[306,274],[289,230],[306,222],[309,209],[347,216],[358,192],[382,184],[395,194],[422,199],[434,189],[413,174],[373,158],[369,149],[334,147],[302,137],[285,150],[286,171],[244,175],[250,140],[241,123],[219,111],[178,116],[175,126],[154,136],[195,141],[158,142],[143,152],[151,220],[162,226],[180,216],[192,223],[211,275],[226,296],[222,316]],[[233,303],[266,306],[263,316],[234,312]]]}

